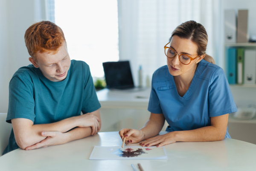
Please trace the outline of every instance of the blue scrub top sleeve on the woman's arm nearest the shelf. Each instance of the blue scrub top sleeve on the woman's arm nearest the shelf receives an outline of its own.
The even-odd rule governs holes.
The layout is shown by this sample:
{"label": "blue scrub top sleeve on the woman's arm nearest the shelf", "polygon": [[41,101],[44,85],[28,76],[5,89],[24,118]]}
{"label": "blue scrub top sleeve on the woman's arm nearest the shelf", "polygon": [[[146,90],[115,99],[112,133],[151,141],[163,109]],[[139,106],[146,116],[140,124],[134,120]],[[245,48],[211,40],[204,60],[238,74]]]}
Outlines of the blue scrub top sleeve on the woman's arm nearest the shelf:
{"label": "blue scrub top sleeve on the woman's arm nearest the shelf", "polygon": [[236,104],[222,68],[217,68],[209,85],[209,117],[236,112]]}

